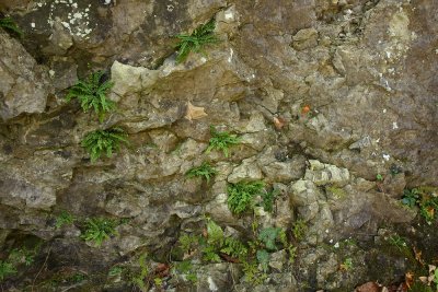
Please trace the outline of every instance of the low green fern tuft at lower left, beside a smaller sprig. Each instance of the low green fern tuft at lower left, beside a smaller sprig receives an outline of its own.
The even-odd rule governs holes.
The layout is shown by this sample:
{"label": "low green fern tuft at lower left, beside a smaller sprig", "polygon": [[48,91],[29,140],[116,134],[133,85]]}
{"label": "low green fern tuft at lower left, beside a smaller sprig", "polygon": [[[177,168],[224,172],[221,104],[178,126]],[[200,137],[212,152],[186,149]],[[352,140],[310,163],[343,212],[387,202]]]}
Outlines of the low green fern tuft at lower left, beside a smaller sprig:
{"label": "low green fern tuft at lower left, beside a smaller sprig", "polygon": [[117,235],[117,221],[105,218],[88,219],[82,238],[85,242],[93,242],[96,247],[101,246],[103,241]]}

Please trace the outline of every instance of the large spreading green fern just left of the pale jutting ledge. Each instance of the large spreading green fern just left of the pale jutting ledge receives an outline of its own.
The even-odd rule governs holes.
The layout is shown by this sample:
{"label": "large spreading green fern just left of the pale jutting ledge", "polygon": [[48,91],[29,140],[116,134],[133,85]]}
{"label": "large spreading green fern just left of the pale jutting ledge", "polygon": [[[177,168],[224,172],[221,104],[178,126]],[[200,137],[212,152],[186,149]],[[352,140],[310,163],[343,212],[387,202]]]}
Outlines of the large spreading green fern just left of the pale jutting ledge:
{"label": "large spreading green fern just left of the pale jutting ledge", "polygon": [[102,122],[105,114],[115,108],[115,103],[106,98],[106,94],[113,87],[114,83],[110,81],[102,82],[105,72],[96,71],[90,74],[87,80],[78,81],[70,87],[66,98],[70,102],[72,98],[79,100],[83,112],[94,109]]}

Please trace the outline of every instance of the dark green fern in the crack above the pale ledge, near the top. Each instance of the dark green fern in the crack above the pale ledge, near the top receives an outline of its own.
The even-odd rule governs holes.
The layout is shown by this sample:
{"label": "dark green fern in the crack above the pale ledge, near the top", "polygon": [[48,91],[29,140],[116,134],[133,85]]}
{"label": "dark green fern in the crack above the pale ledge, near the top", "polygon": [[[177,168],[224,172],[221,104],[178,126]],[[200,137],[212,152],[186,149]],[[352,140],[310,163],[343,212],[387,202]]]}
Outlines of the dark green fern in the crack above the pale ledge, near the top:
{"label": "dark green fern in the crack above the pale ledge, near the top", "polygon": [[176,45],[177,57],[176,62],[185,61],[191,51],[201,52],[203,48],[208,44],[218,43],[219,39],[215,35],[215,20],[210,20],[206,24],[198,26],[192,34],[180,34],[176,38],[180,43]]}

